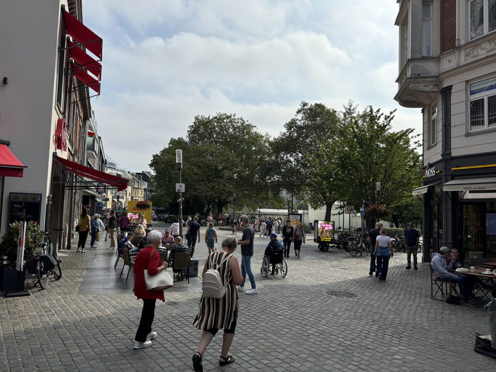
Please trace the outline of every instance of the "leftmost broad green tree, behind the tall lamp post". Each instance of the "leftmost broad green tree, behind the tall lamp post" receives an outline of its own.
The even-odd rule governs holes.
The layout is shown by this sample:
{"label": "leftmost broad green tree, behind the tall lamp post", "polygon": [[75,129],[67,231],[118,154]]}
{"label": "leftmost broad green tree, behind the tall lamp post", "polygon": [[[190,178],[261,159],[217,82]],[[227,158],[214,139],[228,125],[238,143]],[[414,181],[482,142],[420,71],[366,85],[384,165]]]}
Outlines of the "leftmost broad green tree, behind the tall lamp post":
{"label": "leftmost broad green tree, behind the tall lamp post", "polygon": [[150,167],[157,193],[170,200],[177,198],[177,148],[183,149],[184,197],[201,200],[205,215],[223,211],[234,194],[253,209],[260,200],[277,200],[275,183],[269,178],[275,163],[269,138],[245,119],[225,113],[196,116],[186,139],[171,139],[168,147],[153,155]]}

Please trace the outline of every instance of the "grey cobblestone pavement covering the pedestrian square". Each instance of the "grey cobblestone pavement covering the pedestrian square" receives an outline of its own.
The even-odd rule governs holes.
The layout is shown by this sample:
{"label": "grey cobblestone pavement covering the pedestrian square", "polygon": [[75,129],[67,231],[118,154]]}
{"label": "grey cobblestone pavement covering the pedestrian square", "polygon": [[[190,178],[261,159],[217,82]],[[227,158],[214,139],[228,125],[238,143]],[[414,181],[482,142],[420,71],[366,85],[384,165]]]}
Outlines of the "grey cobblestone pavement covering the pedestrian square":
{"label": "grey cobblestone pavement covering the pedestrian square", "polygon": [[[334,248],[321,252],[307,242],[302,258],[288,259],[286,278],[263,278],[266,243],[257,236],[252,268],[259,294],[241,294],[230,353],[236,363],[222,371],[494,370],[494,360],[473,352],[474,332],[489,333],[486,311],[432,301],[427,264],[405,270],[406,255],[396,254],[388,280],[379,282],[368,275],[368,257]],[[95,283],[85,276],[92,262],[107,262],[101,266],[107,266],[102,274],[109,281],[125,281],[109,265],[115,256],[105,244],[98,254],[87,249],[62,257],[63,277],[47,290],[0,299],[0,372],[192,371],[200,335],[192,326],[197,284],[166,292],[154,321],[159,336],[152,347],[133,350],[141,303],[130,289],[123,285],[113,293],[86,294],[91,280]],[[196,258],[206,251],[203,242],[197,245]],[[221,341],[217,336],[207,349],[205,371],[220,370]]]}

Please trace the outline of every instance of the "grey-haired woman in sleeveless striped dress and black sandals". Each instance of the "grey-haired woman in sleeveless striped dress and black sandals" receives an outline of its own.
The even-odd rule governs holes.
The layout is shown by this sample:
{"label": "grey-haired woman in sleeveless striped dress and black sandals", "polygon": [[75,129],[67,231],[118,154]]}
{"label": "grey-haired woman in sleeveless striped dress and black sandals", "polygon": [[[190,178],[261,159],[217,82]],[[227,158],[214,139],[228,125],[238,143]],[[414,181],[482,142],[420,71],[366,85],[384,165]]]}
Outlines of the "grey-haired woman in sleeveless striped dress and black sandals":
{"label": "grey-haired woman in sleeveless striped dress and black sandals", "polygon": [[[234,237],[224,239],[222,249],[210,253],[209,258],[205,261],[203,275],[210,268],[212,262],[217,262],[217,265],[219,265],[224,258],[227,258],[236,250],[237,245]],[[234,362],[234,358],[227,353],[233,342],[236,320],[238,318],[238,291],[236,290],[236,286],[243,283],[243,276],[241,275],[238,259],[234,255],[227,258],[218,267],[218,270],[222,278],[222,283],[226,288],[226,294],[221,299],[201,296],[198,313],[193,322],[196,328],[203,331],[198,350],[193,355],[193,369],[195,372],[203,371],[201,363],[203,353],[221,328],[224,329],[224,337],[219,365],[225,366]]]}

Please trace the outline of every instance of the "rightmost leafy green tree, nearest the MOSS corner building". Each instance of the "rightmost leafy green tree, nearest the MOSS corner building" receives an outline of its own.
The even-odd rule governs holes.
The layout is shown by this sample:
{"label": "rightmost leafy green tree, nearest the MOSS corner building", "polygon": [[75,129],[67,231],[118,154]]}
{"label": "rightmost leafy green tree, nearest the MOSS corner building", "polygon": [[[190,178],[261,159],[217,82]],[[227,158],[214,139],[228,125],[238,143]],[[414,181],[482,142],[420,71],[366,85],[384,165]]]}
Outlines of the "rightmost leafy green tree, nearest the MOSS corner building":
{"label": "rightmost leafy green tree, nearest the MOSS corner building", "polygon": [[[393,119],[394,111],[386,115],[368,106],[359,112],[352,102],[344,107],[347,146],[341,160],[347,169],[347,183],[340,198],[355,206],[375,200],[375,185],[380,182],[380,203],[393,212],[394,220],[395,213],[417,203],[412,189],[421,184],[421,156],[418,135],[411,128],[393,131]],[[368,226],[373,222],[369,220]]]}

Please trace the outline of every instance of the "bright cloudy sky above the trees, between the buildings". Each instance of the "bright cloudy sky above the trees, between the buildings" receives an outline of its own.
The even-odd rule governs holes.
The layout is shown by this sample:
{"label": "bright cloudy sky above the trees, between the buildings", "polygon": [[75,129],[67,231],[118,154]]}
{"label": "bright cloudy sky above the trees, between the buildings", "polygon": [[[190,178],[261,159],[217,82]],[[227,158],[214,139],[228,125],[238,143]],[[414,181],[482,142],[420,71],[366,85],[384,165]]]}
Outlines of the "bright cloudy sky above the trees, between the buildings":
{"label": "bright cloudy sky above the trees, between the buildings", "polygon": [[185,136],[195,115],[236,113],[278,135],[304,100],[337,110],[400,107],[393,0],[84,0],[103,38],[101,96],[92,99],[107,156],[130,171]]}

